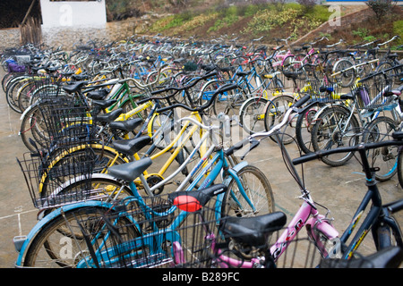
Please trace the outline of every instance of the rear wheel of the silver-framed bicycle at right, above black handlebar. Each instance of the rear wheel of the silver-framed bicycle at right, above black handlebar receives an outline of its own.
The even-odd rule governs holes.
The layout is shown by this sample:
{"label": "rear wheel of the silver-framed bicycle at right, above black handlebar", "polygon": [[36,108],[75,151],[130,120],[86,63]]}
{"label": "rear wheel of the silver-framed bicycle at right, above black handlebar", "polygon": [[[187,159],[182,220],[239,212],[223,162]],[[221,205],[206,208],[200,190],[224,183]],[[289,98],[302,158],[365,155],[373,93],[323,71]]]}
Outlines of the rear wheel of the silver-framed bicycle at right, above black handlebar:
{"label": "rear wheel of the silver-framed bicycle at right, above black handlebar", "polygon": [[[358,143],[359,124],[355,116],[340,106],[326,108],[313,124],[313,150],[329,150]],[[322,157],[322,162],[330,166],[346,164],[354,156],[353,152]]]}

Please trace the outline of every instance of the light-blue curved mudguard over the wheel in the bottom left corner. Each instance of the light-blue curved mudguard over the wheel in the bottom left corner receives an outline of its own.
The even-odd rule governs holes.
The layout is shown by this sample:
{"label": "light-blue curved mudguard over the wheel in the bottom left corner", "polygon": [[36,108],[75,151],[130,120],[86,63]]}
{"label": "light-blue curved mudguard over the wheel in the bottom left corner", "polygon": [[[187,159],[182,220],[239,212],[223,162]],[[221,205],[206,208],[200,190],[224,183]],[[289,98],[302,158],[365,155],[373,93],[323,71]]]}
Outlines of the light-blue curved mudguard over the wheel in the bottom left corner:
{"label": "light-blue curved mudguard over the wheel in the bottom left corner", "polygon": [[[84,206],[100,206],[100,207],[105,207],[105,208],[110,208],[112,207],[111,204],[105,203],[99,200],[92,200],[92,201],[87,201],[87,202],[81,202],[81,203],[76,203],[68,206],[62,206],[51,212],[50,214],[47,214],[42,220],[39,221],[31,230],[30,233],[26,237],[19,237],[20,243],[22,238],[25,240],[23,241],[23,244],[21,246],[21,249],[19,250],[20,254],[17,257],[17,260],[15,262],[15,267],[22,267],[22,258],[25,257],[25,252],[27,249],[30,247],[30,242],[35,239],[35,237],[38,235],[39,231],[42,230],[42,228],[47,225],[47,223],[51,223],[52,220],[54,220],[56,217],[59,215],[62,215],[62,210],[64,213],[71,211],[73,209],[78,209],[82,208]],[[15,238],[14,238],[15,241]],[[17,249],[18,251],[18,249]]]}

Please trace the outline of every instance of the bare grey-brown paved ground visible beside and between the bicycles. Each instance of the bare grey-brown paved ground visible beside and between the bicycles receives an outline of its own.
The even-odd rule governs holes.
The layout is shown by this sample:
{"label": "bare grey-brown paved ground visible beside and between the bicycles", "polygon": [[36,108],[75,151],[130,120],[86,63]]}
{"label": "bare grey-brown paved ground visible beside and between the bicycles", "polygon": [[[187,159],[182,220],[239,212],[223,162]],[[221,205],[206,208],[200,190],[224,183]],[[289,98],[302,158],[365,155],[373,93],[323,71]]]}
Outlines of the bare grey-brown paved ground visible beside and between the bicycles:
{"label": "bare grey-brown paved ground visible beside and between the bicycles", "polygon": [[[4,72],[0,71],[0,78]],[[11,110],[0,91],[0,267],[13,267],[17,252],[13,247],[13,237],[28,234],[37,223],[37,210],[32,206],[30,195],[15,158],[22,156],[27,149],[18,135],[20,114]],[[296,147],[288,146],[296,157]],[[274,191],[278,210],[288,217],[296,213],[300,195],[295,181],[290,177],[281,161],[279,148],[269,139],[246,158],[246,160],[266,173]],[[350,222],[356,206],[364,196],[364,177],[355,160],[347,165],[332,168],[315,161],[304,164],[306,185],[312,191],[316,202],[327,206],[335,218],[335,226],[341,232]],[[403,190],[397,186],[397,178],[380,183],[384,202],[403,198]],[[325,211],[321,210],[322,214]],[[403,223],[403,214],[399,214]],[[403,225],[403,224],[402,224]]]}

